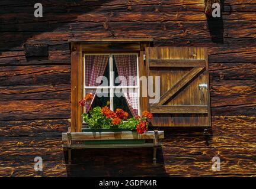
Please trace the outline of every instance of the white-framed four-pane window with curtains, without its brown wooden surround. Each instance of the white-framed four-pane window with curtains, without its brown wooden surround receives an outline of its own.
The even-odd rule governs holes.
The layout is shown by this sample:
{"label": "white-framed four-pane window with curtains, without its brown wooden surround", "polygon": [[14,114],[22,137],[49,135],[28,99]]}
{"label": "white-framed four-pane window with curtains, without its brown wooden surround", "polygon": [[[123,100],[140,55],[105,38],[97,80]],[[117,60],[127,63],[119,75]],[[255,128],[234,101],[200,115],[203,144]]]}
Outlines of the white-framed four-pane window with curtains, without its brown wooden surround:
{"label": "white-framed four-pane window with curtains, without its brown wooden surround", "polygon": [[83,93],[91,93],[88,112],[95,106],[124,109],[129,117],[140,114],[139,63],[137,53],[84,54]]}

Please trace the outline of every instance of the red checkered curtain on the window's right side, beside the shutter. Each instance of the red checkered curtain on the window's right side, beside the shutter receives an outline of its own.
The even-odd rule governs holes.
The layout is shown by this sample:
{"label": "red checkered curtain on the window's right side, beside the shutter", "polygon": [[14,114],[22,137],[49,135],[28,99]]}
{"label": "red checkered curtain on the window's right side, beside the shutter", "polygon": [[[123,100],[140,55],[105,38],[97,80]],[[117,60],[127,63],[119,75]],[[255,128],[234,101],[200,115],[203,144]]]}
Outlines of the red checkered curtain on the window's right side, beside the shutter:
{"label": "red checkered curtain on the window's right side, beside the shutter", "polygon": [[[118,54],[114,55],[114,60],[116,62],[117,72],[119,77],[124,77],[127,82],[121,82],[121,86],[137,86],[137,56],[134,54]],[[123,90],[124,97],[126,98],[127,105],[133,116],[138,114],[138,90],[137,89],[127,89]]]}

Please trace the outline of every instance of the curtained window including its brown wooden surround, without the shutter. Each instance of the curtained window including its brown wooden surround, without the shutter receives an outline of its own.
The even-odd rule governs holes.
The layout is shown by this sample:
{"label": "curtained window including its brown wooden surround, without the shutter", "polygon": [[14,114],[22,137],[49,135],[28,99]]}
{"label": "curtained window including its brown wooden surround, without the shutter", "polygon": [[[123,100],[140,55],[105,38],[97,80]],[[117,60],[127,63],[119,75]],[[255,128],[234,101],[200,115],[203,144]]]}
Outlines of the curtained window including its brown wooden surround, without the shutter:
{"label": "curtained window including its brown wooden surround, without the shutter", "polygon": [[[82,116],[89,108],[105,106],[124,109],[130,116],[148,110],[139,77],[146,76],[143,60],[151,38],[71,39],[71,132],[82,131]],[[100,78],[99,78],[100,76]],[[101,76],[107,78],[103,83]],[[123,77],[120,77],[123,76]],[[132,81],[129,82],[129,76]],[[135,78],[135,79],[134,79]],[[124,79],[126,82],[124,82]],[[79,106],[85,93],[95,94],[91,105]],[[96,95],[97,94],[97,95]]]}

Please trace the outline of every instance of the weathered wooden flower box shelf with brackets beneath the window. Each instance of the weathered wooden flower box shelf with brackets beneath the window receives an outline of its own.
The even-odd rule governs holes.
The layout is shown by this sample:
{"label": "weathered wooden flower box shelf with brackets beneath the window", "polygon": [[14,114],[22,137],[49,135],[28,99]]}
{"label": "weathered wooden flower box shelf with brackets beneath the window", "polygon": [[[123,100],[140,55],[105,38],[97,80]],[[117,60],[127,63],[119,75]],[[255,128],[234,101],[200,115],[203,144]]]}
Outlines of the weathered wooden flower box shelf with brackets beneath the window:
{"label": "weathered wooden flower box shelf with brackets beneath the window", "polygon": [[[87,149],[87,148],[153,148],[153,162],[156,163],[156,149],[161,146],[159,139],[164,138],[164,131],[147,131],[142,135],[136,131],[106,131],[106,132],[65,132],[62,133],[63,148],[68,150],[68,162],[71,164],[72,149]],[[140,143],[129,143],[127,140],[145,140]],[[114,141],[116,144],[103,144],[95,141]],[[93,141],[94,143],[87,144],[85,141]],[[123,142],[120,142],[123,141]]]}

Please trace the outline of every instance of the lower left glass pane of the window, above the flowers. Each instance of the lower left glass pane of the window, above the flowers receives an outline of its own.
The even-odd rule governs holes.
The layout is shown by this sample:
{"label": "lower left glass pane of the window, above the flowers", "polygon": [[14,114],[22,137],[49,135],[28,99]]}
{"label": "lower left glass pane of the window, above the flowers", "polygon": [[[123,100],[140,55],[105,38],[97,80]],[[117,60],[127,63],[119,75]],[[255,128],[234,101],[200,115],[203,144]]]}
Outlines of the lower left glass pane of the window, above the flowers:
{"label": "lower left glass pane of the window, above the flowers", "polygon": [[91,93],[93,96],[92,102],[90,105],[85,106],[85,112],[89,109],[94,108],[96,106],[103,107],[107,105],[107,101],[110,101],[110,93],[108,89],[92,89],[85,90],[85,94]]}

